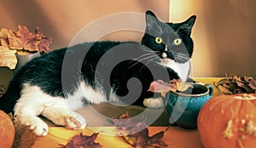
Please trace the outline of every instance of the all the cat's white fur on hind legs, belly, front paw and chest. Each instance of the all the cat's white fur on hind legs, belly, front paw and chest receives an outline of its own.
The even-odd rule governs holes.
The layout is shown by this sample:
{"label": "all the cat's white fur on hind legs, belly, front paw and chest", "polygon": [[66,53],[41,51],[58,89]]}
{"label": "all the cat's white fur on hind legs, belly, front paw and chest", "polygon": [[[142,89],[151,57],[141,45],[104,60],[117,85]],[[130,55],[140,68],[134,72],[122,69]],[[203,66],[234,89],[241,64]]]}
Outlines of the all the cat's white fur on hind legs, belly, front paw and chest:
{"label": "all the cat's white fur on hind legs, belly, front paw and chest", "polygon": [[[186,81],[189,75],[189,61],[184,64],[178,64],[174,60],[163,59],[160,64],[177,71],[177,75],[181,77],[183,81]],[[15,105],[15,117],[17,117],[22,124],[33,129],[34,133],[38,136],[48,134],[48,125],[38,117],[39,115],[47,117],[57,125],[73,129],[83,129],[86,126],[86,121],[84,117],[74,111],[83,106],[84,98],[91,104],[100,104],[107,101],[101,88],[91,88],[90,85],[86,85],[84,82],[79,83],[76,91],[74,91],[73,94],[68,94],[66,98],[50,96],[44,93],[38,86],[24,83],[20,100],[18,100]],[[118,100],[113,92],[110,94],[110,98],[111,102]],[[164,106],[164,102],[161,98],[154,99],[153,102],[155,101],[160,103],[154,105],[150,105],[149,103],[148,107],[159,108]]]}

